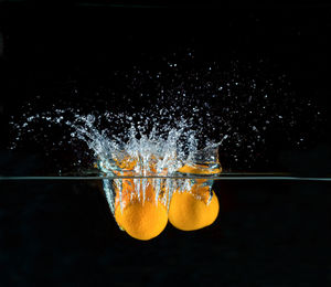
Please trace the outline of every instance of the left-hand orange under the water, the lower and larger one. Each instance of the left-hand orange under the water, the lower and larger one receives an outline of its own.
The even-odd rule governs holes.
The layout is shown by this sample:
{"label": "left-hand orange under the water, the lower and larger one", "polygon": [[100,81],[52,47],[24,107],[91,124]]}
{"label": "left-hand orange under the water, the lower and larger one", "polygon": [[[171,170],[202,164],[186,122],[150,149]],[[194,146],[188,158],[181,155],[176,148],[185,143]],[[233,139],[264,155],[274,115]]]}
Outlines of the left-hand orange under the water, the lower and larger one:
{"label": "left-hand orange under the water, the lower and larger one", "polygon": [[115,220],[131,237],[148,241],[157,237],[167,226],[168,212],[166,206],[156,200],[156,193],[150,183],[146,188],[146,198],[142,199],[134,192],[134,182],[126,182],[122,188],[122,209],[119,195],[116,194]]}

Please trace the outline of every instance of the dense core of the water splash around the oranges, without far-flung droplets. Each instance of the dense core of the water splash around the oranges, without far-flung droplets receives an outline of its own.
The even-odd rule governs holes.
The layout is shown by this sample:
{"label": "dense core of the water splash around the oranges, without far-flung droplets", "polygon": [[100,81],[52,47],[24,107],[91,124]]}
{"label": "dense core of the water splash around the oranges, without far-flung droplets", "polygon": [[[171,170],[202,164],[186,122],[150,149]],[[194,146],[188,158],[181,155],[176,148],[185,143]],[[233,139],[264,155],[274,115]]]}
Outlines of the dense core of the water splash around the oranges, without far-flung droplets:
{"label": "dense core of the water splash around the oranges, without far-flung droplets", "polygon": [[[106,114],[109,116],[109,114]],[[105,176],[118,177],[152,177],[174,176],[177,173],[196,173],[212,176],[221,172],[217,148],[221,142],[207,142],[199,149],[196,131],[191,129],[186,120],[181,120],[177,127],[163,126],[158,130],[153,125],[149,135],[143,134],[146,126],[138,128],[131,123],[128,130],[128,141],[121,138],[109,138],[107,130],[99,131],[95,126],[93,115],[77,116],[74,124],[67,123],[75,129],[75,136],[87,144],[97,158],[97,167]],[[156,124],[156,123],[153,123]],[[226,139],[227,135],[223,139]],[[222,140],[223,140],[222,139]],[[169,203],[174,191],[191,192],[193,187],[206,188],[212,199],[212,180],[173,180],[173,179],[115,179],[104,180],[104,190],[110,210],[115,213],[116,196],[124,209],[124,198],[137,198],[146,201],[147,189],[154,191],[156,203],[159,201],[169,210]],[[128,194],[129,193],[129,194]],[[199,193],[193,194],[199,198]]]}

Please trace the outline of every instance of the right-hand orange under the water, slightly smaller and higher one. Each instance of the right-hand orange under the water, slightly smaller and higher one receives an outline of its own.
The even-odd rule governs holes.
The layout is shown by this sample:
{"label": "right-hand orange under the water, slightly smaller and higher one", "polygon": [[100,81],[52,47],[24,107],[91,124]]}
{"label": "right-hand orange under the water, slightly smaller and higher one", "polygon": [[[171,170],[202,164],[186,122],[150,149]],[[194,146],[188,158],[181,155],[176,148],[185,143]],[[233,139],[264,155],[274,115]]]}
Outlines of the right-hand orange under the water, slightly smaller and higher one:
{"label": "right-hand orange under the water, slightly smaller and higher one", "polygon": [[201,192],[196,188],[191,192],[174,192],[168,215],[170,223],[182,231],[195,231],[211,225],[218,215],[220,204],[214,191],[211,202],[207,199],[209,191]]}

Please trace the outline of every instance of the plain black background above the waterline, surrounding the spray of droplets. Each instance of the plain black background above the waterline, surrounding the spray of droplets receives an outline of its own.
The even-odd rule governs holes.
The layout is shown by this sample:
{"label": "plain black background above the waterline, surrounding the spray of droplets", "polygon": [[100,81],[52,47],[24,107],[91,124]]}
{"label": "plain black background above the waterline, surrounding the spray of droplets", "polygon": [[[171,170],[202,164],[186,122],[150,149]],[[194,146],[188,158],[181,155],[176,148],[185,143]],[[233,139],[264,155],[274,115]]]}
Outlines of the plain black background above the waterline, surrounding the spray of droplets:
{"label": "plain black background above the waterline, surrounding the spray of droplets", "polygon": [[[36,96],[50,109],[49,103],[70,97],[78,89],[77,100],[97,108],[96,91],[103,93],[104,87],[107,94],[107,88],[115,85],[109,77],[113,71],[130,70],[152,56],[190,47],[201,62],[216,60],[226,66],[231,61],[238,61],[242,66],[247,63],[260,68],[254,72],[266,78],[286,75],[293,96],[312,99],[322,111],[324,120],[314,134],[308,135],[311,142],[308,140],[305,151],[293,151],[284,144],[281,128],[270,130],[267,153],[257,161],[255,171],[330,173],[328,4],[58,2],[46,6],[9,1],[1,4],[0,13],[2,150],[10,142],[10,116],[24,113],[26,103]],[[132,100],[125,108],[139,107],[140,98]],[[310,128],[317,125],[309,117],[305,118],[303,114],[297,126],[303,135],[312,132]],[[30,145],[35,153],[35,142]],[[29,153],[29,145],[24,149]],[[2,153],[8,161],[14,161],[11,153]],[[267,164],[265,159],[271,163]],[[3,174],[18,174],[12,171],[15,167],[7,171],[8,161],[7,168],[2,164]],[[226,158],[222,163],[231,166]],[[243,166],[243,169],[247,168]]]}

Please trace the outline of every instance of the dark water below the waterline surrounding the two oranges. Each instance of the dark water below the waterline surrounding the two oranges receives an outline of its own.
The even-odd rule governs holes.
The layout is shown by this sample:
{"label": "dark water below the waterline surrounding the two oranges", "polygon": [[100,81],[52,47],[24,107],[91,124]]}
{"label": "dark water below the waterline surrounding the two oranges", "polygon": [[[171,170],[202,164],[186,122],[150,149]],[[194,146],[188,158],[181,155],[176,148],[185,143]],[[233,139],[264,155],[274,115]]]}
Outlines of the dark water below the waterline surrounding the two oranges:
{"label": "dark water below the waterline surrounding the two oranges", "polygon": [[0,181],[1,286],[328,286],[330,182],[215,181],[203,230],[121,232],[99,181]]}

